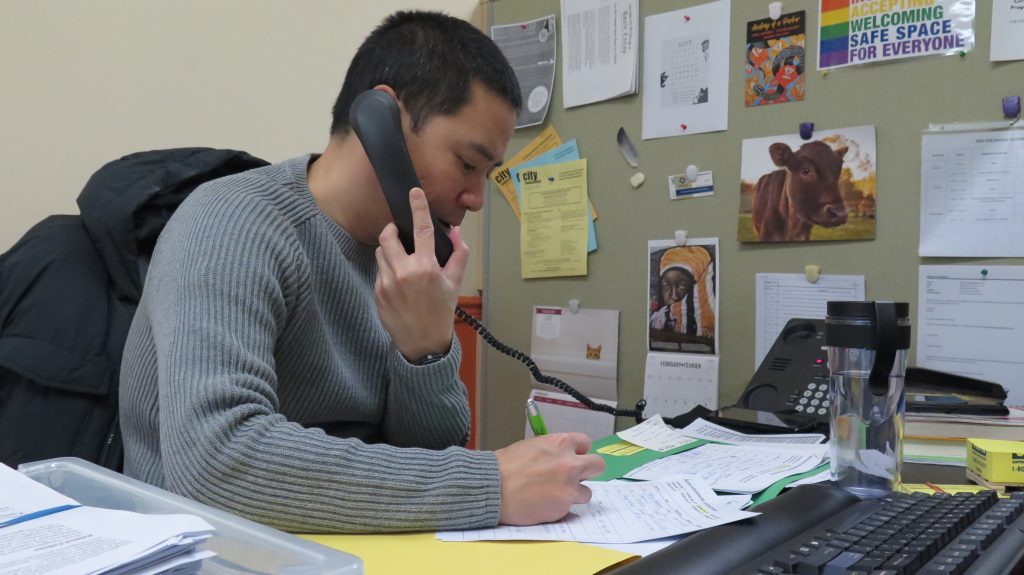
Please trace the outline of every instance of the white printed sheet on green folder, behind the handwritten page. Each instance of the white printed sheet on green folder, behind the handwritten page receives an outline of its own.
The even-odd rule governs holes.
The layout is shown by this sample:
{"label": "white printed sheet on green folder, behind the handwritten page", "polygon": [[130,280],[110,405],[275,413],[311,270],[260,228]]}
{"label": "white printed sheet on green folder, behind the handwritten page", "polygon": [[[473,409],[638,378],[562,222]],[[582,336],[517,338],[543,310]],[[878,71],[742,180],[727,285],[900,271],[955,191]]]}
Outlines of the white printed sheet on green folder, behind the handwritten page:
{"label": "white printed sheet on green folder, behind the handwritten page", "polygon": [[782,478],[818,467],[827,449],[826,445],[797,450],[709,443],[655,459],[626,478],[655,481],[696,475],[716,491],[757,493]]}

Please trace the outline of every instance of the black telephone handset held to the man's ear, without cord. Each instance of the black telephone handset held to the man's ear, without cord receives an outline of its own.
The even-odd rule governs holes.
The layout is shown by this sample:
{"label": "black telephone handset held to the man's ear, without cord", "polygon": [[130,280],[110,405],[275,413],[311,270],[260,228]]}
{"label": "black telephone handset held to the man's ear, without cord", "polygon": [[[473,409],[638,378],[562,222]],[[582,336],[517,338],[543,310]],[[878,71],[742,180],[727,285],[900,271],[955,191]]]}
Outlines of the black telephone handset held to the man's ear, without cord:
{"label": "black telephone handset held to the man's ear, without cord", "polygon": [[[416,246],[409,190],[421,186],[406,147],[398,103],[387,92],[367,90],[352,102],[348,122],[362,143],[362,149],[367,151],[367,158],[384,190],[394,225],[398,228],[398,239],[406,252],[412,254]],[[433,213],[430,219],[434,224],[434,255],[437,263],[444,267],[454,250],[447,236],[449,226],[440,223]]]}

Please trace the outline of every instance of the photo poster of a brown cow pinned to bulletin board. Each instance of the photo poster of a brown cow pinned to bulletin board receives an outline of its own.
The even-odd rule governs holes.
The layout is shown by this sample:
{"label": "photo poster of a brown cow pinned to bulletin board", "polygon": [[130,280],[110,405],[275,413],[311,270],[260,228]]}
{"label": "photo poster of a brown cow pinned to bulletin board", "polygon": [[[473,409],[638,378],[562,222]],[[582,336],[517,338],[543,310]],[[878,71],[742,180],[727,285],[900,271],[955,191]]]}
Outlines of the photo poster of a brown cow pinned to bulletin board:
{"label": "photo poster of a brown cow pinned to bulletin board", "polygon": [[874,126],[743,140],[740,241],[874,238]]}

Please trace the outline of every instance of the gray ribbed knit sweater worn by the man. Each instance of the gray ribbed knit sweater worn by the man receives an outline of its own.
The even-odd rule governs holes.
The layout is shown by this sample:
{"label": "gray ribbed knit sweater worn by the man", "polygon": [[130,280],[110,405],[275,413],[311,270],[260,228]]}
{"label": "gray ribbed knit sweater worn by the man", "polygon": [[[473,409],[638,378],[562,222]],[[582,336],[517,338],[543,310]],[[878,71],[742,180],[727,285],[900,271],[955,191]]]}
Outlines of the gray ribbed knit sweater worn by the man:
{"label": "gray ribbed knit sweater worn by the man", "polygon": [[198,188],[153,257],[121,374],[125,473],[299,532],[498,523],[461,350],[409,364],[377,264],[316,206],[309,156]]}

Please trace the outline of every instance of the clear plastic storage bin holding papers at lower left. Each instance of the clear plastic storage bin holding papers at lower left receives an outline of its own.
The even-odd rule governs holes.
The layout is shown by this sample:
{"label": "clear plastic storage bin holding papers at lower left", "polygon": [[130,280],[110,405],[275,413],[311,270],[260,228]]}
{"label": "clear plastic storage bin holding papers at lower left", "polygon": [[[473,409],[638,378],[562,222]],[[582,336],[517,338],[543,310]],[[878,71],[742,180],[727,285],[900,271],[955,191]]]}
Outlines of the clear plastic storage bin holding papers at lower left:
{"label": "clear plastic storage bin holding papers at lower left", "polygon": [[209,505],[146,485],[77,457],[18,466],[18,471],[83,505],[144,514],[193,514],[217,531],[201,548],[217,554],[200,573],[361,575],[352,555],[300,539]]}

